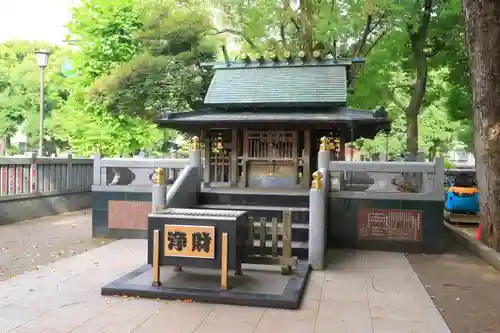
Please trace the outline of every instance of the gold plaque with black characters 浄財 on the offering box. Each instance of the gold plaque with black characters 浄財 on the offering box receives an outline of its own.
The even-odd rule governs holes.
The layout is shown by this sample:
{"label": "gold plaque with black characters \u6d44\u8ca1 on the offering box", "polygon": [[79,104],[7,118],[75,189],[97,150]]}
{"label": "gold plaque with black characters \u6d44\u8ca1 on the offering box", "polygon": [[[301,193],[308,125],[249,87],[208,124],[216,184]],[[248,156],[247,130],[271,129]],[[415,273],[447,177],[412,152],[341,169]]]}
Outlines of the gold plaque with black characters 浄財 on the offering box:
{"label": "gold plaque with black characters \u6d44\u8ca1 on the offering box", "polygon": [[215,258],[215,227],[165,224],[166,257]]}

